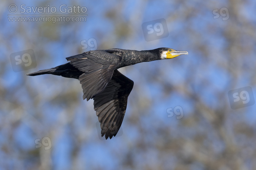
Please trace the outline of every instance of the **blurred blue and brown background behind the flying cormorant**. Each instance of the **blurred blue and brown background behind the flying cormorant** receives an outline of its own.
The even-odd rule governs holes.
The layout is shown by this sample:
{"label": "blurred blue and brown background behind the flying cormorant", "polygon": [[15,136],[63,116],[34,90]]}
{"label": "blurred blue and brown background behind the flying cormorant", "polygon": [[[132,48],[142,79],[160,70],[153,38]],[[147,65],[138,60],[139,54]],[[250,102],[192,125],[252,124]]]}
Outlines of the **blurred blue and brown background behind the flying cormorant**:
{"label": "blurred blue and brown background behind the flying cormorant", "polygon": [[[41,17],[47,14],[20,13],[20,5],[49,4],[55,14],[62,4],[79,5],[87,16],[81,22],[10,21],[10,4],[17,5],[15,14]],[[253,0],[2,0],[0,169],[256,169],[255,9]],[[142,24],[162,18],[169,35],[146,41]],[[79,81],[25,75],[89,50],[159,47],[189,55],[119,69],[134,87],[120,132],[108,140],[99,138],[93,100],[82,99]],[[22,67],[26,57],[17,65],[11,57],[28,49],[35,56],[30,69]],[[232,109],[228,91],[247,86],[250,106]]]}

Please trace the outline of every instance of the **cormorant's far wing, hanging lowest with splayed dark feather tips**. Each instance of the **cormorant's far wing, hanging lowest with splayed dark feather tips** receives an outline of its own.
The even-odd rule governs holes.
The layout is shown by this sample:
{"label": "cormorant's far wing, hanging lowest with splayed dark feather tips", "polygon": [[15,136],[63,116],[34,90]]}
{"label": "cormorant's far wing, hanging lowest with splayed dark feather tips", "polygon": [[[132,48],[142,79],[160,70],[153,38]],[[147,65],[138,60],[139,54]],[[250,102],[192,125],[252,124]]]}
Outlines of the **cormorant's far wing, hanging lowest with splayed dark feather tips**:
{"label": "cormorant's far wing, hanging lowest with splayed dark feather tips", "polygon": [[93,98],[102,137],[105,135],[106,139],[111,139],[116,136],[124,119],[132,87],[133,81],[115,70],[106,88]]}

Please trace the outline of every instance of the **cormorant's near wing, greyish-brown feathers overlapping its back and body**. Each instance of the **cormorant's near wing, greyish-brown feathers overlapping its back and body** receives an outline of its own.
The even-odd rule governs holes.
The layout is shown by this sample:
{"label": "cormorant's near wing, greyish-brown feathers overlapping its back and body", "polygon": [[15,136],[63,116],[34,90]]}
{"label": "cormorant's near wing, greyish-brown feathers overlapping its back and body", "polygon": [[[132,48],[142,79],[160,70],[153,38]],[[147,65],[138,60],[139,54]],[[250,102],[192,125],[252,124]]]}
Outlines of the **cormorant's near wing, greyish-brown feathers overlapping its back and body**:
{"label": "cormorant's near wing, greyish-brown feathers overlapping its back and body", "polygon": [[83,88],[83,99],[86,98],[88,101],[104,90],[122,57],[104,50],[95,50],[66,59],[72,66],[84,72],[79,80]]}

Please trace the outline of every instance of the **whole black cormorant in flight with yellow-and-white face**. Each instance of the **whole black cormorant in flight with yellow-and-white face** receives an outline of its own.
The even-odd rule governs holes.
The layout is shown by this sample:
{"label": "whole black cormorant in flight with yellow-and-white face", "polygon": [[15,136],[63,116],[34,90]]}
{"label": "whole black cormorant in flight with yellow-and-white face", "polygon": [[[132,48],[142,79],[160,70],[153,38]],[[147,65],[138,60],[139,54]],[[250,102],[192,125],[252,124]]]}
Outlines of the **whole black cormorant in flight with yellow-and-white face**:
{"label": "whole black cormorant in flight with yellow-and-white face", "polygon": [[117,69],[141,62],[169,59],[188,54],[171,48],[154,50],[93,50],[67,57],[69,63],[30,73],[27,75],[54,74],[74,78],[83,88],[83,99],[94,100],[94,110],[98,116],[101,136],[111,139],[123,122],[127,99],[133,87],[133,81]]}

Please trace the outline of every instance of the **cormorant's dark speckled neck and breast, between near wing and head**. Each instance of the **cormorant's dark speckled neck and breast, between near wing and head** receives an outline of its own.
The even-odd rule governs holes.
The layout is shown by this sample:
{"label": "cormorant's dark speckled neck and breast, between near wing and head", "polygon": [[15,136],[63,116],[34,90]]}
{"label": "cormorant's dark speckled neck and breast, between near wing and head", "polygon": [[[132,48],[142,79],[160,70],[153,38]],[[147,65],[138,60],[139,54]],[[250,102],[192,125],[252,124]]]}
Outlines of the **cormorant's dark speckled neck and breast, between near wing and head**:
{"label": "cormorant's dark speckled neck and breast, between near wing and head", "polygon": [[154,50],[127,50],[126,55],[122,58],[119,68],[141,62],[151,62],[155,60],[161,60],[161,57]]}

